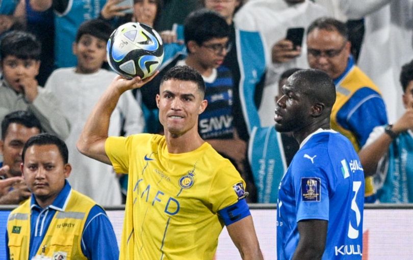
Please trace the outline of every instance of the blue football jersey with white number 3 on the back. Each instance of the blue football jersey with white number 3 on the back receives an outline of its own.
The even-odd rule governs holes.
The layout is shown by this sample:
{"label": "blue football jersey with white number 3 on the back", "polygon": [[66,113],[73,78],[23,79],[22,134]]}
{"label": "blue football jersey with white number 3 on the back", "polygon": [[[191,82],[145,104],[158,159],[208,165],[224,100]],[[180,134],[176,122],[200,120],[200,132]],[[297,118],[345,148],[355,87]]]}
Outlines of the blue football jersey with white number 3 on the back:
{"label": "blue football jersey with white number 3 on the back", "polygon": [[278,259],[292,258],[297,222],[306,219],[328,221],[322,259],[362,259],[364,172],[346,137],[322,130],[309,136],[278,189]]}

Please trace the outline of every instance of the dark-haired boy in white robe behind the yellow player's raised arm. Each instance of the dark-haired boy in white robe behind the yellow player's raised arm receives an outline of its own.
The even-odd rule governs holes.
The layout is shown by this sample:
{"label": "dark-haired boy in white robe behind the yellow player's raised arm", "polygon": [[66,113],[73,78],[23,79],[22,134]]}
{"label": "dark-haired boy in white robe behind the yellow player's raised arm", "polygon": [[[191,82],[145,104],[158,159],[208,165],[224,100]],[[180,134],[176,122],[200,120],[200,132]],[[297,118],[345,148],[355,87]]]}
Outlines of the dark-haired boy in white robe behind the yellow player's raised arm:
{"label": "dark-haired boy in white robe behind the yellow player's raised arm", "polygon": [[[119,182],[112,167],[89,159],[75,147],[87,116],[100,95],[116,74],[102,69],[106,61],[106,43],[113,29],[105,21],[84,22],[76,35],[73,53],[78,65],[55,70],[46,82],[46,89],[59,94],[59,101],[72,125],[66,143],[71,153],[69,162],[74,174],[69,181],[75,190],[91,197],[101,205],[121,203]],[[111,117],[110,136],[141,133],[144,127],[142,110],[132,92],[125,92]]]}

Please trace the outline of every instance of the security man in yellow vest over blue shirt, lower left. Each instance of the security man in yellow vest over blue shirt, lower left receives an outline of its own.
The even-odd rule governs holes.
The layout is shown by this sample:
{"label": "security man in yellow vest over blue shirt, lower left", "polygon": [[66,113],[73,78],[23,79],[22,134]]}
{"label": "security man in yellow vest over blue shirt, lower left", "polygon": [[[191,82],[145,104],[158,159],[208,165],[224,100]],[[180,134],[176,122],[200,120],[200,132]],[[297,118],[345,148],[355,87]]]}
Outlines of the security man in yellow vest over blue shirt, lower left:
{"label": "security man in yellow vest over blue shirt, lower left", "polygon": [[118,259],[115,232],[105,211],[71,189],[66,144],[50,134],[31,137],[20,168],[32,197],[7,222],[7,259]]}

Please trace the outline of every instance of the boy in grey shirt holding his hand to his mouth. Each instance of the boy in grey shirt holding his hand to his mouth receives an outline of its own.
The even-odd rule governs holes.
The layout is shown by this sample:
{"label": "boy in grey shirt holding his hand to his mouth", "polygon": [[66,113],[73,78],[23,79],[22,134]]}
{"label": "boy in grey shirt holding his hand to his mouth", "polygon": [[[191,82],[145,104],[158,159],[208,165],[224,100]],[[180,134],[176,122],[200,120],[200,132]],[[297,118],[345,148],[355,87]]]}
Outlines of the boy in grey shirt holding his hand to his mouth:
{"label": "boy in grey shirt holding his hand to his mouth", "polygon": [[35,78],[39,73],[40,51],[36,37],[27,32],[9,32],[0,42],[0,121],[11,112],[29,111],[46,132],[66,139],[70,125],[60,103]]}

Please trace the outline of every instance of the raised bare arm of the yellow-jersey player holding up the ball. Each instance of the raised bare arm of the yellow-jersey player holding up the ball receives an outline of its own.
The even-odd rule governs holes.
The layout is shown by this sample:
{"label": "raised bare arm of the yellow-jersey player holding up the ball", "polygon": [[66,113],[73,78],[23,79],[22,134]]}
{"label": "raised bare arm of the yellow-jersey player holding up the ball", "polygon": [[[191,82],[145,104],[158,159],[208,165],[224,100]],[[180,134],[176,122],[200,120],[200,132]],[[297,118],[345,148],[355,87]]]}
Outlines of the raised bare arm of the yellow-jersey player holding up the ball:
{"label": "raised bare arm of the yellow-jersey player holding up the ball", "polygon": [[141,80],[140,77],[135,77],[132,80],[123,79],[121,76],[115,77],[86,121],[76,144],[81,153],[102,163],[111,164],[105,152],[105,142],[108,138],[110,116],[118,103],[119,97],[126,90],[142,87],[152,80],[156,74],[144,80]]}

